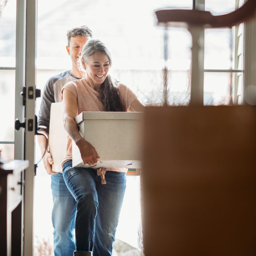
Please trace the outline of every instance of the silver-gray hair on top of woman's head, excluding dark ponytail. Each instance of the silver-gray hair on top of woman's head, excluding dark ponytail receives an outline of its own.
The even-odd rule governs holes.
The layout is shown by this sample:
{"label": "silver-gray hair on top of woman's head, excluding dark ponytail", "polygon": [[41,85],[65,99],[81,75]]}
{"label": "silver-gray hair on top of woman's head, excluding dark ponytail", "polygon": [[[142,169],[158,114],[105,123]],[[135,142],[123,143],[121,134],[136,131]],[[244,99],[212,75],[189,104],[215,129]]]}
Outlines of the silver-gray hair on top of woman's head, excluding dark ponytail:
{"label": "silver-gray hair on top of woman's head, excluding dark ponytail", "polygon": [[86,42],[86,44],[83,46],[81,55],[77,63],[77,66],[81,71],[83,72],[86,71],[83,67],[83,62],[86,63],[90,58],[90,56],[92,56],[95,52],[101,52],[107,55],[109,60],[109,65],[110,66],[112,65],[111,54],[108,51],[108,48],[106,47],[106,45],[98,39],[89,39]]}

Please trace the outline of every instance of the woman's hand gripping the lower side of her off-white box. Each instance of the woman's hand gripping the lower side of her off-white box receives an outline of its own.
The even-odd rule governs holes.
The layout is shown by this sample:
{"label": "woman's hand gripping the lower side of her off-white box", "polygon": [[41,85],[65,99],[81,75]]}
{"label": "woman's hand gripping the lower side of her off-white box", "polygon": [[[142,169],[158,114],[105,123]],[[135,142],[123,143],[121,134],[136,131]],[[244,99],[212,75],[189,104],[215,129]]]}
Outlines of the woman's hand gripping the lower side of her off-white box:
{"label": "woman's hand gripping the lower side of her off-white box", "polygon": [[81,138],[76,142],[81,153],[83,164],[93,165],[98,162],[97,158],[100,158],[92,144],[85,139]]}

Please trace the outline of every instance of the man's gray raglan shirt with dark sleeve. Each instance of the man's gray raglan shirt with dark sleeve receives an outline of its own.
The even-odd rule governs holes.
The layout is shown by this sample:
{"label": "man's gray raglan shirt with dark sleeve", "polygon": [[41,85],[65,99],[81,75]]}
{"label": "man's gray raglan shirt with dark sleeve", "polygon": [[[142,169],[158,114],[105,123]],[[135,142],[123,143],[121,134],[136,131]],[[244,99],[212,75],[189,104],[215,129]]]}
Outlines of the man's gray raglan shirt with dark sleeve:
{"label": "man's gray raglan shirt with dark sleeve", "polygon": [[50,110],[51,104],[54,102],[61,101],[61,89],[62,87],[70,82],[77,80],[79,78],[71,75],[70,70],[66,70],[56,76],[52,76],[47,83],[42,94],[42,101],[40,105],[38,125],[44,125],[47,128],[43,130],[49,134],[49,123],[50,123]]}

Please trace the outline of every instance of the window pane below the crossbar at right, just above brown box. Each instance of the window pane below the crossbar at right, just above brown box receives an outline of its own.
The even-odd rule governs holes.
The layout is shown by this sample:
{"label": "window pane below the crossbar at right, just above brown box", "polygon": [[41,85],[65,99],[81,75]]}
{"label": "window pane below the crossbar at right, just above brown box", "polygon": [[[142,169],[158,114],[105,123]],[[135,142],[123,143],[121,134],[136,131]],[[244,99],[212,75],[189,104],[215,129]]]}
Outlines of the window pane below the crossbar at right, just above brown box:
{"label": "window pane below the crossbar at right, just above brown box", "polygon": [[231,100],[234,102],[234,73],[205,72],[204,105],[228,105]]}

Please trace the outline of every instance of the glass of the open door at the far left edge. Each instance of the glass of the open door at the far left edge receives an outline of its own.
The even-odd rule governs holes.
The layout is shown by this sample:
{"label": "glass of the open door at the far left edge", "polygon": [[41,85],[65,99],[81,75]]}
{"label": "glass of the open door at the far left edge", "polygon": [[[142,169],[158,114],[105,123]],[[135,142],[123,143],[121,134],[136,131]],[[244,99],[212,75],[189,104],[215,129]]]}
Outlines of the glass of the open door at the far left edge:
{"label": "glass of the open door at the far left edge", "polygon": [[9,0],[0,16],[0,150],[14,159],[16,1]]}

